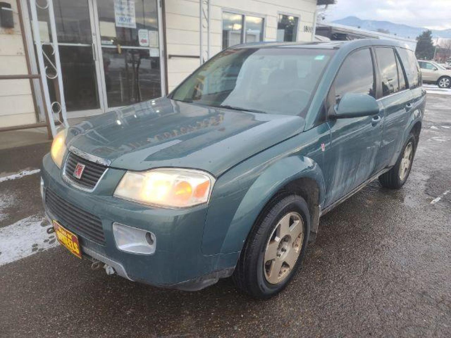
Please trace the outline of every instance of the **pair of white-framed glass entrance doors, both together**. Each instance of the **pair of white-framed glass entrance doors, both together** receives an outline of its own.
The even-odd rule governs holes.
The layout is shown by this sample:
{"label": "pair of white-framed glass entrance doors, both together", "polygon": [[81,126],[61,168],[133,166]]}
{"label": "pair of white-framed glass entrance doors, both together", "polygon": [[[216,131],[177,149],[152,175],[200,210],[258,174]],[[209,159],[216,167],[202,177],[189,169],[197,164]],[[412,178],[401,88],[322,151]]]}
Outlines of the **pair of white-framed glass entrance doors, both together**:
{"label": "pair of white-framed glass entrance doors, both together", "polygon": [[[69,119],[164,94],[158,0],[48,1],[54,8]],[[39,8],[41,40],[50,41],[48,11]],[[51,56],[51,49],[46,52]],[[49,85],[49,91],[56,97],[54,87]]]}

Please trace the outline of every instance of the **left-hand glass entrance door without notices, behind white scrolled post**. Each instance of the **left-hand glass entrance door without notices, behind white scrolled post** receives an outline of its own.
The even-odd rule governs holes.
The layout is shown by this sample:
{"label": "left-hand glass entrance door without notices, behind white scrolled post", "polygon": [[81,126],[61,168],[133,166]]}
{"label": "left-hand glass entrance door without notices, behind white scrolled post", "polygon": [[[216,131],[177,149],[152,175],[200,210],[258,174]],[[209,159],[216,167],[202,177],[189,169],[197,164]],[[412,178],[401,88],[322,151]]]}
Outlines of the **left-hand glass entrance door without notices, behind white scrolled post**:
{"label": "left-hand glass entrance door without notices, behind white scrolled post", "polygon": [[[56,39],[60,65],[55,59],[48,66],[51,73],[61,67],[64,100],[67,117],[100,114],[104,111],[100,90],[100,64],[93,41],[94,21],[91,0],[53,0]],[[37,18],[41,41],[54,41],[51,37],[50,18],[46,7],[37,6]],[[47,58],[52,58],[50,45],[43,46]],[[55,66],[54,66],[55,65]],[[58,88],[49,82],[52,101],[58,96]]]}

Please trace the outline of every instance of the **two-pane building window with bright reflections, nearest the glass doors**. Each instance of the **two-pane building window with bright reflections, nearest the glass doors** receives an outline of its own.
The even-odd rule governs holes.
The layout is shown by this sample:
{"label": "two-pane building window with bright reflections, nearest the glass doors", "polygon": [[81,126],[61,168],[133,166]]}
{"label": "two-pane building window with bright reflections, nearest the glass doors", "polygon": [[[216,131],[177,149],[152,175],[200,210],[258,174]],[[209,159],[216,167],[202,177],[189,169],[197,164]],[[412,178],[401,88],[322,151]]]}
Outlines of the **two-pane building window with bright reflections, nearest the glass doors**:
{"label": "two-pane building window with bright reflections, nearest the glass doors", "polygon": [[223,12],[222,49],[241,43],[263,41],[264,23],[265,20],[261,17]]}

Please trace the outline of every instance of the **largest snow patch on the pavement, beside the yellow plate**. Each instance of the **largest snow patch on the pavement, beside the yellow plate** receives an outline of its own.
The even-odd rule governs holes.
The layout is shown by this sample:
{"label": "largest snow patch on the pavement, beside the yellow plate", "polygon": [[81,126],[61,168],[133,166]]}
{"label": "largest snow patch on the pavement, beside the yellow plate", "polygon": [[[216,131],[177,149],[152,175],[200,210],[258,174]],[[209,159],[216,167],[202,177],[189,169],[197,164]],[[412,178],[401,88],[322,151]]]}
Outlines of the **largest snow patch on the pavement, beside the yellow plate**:
{"label": "largest snow patch on the pavement, beside the yellow plate", "polygon": [[59,245],[42,217],[29,216],[0,228],[0,266]]}

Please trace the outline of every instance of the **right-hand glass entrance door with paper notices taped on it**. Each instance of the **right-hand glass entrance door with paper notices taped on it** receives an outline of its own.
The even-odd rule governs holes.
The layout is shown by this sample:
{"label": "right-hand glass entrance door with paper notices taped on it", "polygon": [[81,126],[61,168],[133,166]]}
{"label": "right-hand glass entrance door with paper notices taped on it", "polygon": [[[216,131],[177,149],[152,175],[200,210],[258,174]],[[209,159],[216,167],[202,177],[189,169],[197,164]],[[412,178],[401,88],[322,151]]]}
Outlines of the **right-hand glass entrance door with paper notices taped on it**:
{"label": "right-hand glass entrance door with paper notices taped on it", "polygon": [[107,108],[162,95],[157,0],[93,0]]}

